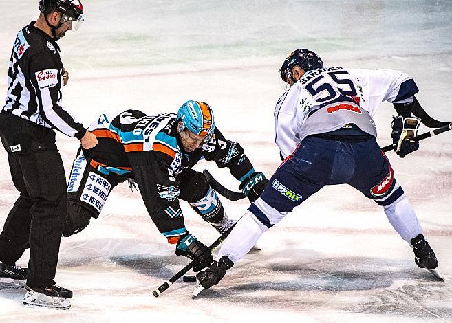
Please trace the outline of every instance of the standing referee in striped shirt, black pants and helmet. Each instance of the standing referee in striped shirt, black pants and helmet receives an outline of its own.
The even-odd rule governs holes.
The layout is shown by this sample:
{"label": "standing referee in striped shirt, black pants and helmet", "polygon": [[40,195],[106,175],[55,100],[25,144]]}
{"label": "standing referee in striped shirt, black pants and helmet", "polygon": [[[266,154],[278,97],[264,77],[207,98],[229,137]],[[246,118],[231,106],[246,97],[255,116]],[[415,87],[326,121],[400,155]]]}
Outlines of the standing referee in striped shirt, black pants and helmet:
{"label": "standing referee in striped shirt, black pants and helmet", "polygon": [[[72,291],[58,287],[54,277],[66,216],[66,181],[52,129],[76,137],[84,148],[97,140],[61,102],[67,72],[56,40],[76,29],[83,7],[79,1],[41,0],[39,10],[39,18],[14,41],[0,113],[1,142],[20,192],[0,234],[0,277],[27,279],[25,305],[65,309]],[[15,263],[28,247],[25,271]]]}

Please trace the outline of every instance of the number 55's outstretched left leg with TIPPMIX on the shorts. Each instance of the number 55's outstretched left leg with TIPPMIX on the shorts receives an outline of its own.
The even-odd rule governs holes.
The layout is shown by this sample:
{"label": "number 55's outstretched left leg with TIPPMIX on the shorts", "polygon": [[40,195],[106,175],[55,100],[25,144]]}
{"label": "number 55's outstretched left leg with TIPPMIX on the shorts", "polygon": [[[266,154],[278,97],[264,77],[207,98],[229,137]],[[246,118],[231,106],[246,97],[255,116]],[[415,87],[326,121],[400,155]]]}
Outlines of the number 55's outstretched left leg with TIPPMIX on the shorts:
{"label": "number 55's outstretched left leg with TIPPMIX on the shorts", "polygon": [[226,269],[247,254],[263,232],[323,187],[321,180],[316,183],[305,181],[305,178],[312,178],[306,176],[311,175],[312,168],[319,167],[314,161],[308,162],[310,157],[305,154],[309,152],[297,150],[281,164],[261,197],[251,203],[244,216],[237,221],[214,263],[197,274],[202,287],[216,285],[226,274]]}

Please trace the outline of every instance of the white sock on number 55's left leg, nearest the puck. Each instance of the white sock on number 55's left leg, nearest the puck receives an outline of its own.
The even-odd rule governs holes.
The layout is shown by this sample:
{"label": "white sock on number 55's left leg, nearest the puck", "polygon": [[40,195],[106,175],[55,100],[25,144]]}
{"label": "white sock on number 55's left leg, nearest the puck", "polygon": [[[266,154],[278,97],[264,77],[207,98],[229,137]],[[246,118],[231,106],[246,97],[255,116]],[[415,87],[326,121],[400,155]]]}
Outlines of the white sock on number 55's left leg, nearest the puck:
{"label": "white sock on number 55's left leg, nearest the puck", "polygon": [[222,248],[219,249],[215,260],[218,261],[222,256],[228,256],[230,260],[236,263],[248,254],[263,232],[267,230],[268,227],[256,219],[254,214],[246,210],[244,216],[237,221],[228,238],[224,241]]}

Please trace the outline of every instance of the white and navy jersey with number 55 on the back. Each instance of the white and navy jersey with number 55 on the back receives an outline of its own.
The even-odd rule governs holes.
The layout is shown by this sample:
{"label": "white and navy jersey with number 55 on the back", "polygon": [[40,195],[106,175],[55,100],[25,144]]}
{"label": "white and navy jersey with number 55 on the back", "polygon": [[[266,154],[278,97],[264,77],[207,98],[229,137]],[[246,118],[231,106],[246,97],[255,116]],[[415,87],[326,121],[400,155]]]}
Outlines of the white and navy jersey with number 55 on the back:
{"label": "white and navy jersey with number 55 on the back", "polygon": [[275,142],[282,157],[308,135],[346,124],[376,137],[372,117],[382,102],[412,102],[418,87],[411,77],[389,69],[327,67],[308,71],[275,107]]}

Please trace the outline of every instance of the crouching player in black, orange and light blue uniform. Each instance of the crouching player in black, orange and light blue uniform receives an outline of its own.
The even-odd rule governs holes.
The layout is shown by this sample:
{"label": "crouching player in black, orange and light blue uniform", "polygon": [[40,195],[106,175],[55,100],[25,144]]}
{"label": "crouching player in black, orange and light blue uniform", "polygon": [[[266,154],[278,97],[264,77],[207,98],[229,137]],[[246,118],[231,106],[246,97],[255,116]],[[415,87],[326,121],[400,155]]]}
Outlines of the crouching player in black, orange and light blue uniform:
{"label": "crouching player in black, orange and light blue uniform", "polygon": [[138,184],[144,205],[158,230],[176,245],[176,254],[195,260],[194,269],[210,265],[207,247],[186,231],[179,199],[224,232],[233,221],[204,175],[191,169],[201,159],[228,167],[254,201],[266,179],[256,172],[240,144],[226,140],[215,126],[211,107],[188,101],[175,113],[145,115],[127,110],[100,115],[89,127],[99,144],[80,149],[67,186],[65,236],[97,218],[111,190],[129,179]]}

